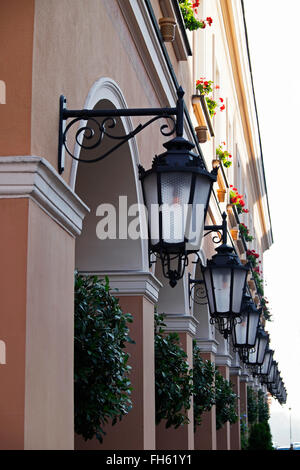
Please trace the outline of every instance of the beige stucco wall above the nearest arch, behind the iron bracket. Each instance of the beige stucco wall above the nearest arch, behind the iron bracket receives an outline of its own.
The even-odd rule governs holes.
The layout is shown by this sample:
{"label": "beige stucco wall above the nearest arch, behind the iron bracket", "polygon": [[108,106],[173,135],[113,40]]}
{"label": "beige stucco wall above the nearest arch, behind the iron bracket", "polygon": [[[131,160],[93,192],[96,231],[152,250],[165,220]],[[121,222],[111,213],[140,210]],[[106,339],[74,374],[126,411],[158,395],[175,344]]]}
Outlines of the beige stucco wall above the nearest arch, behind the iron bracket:
{"label": "beige stucco wall above the nearest arch, behind the iron bracket", "polygon": [[[32,154],[45,156],[57,167],[59,96],[67,97],[68,108],[82,108],[100,77],[115,80],[128,107],[166,105],[158,102],[116,1],[36,0],[34,26]],[[146,166],[161,151],[158,134],[159,124],[137,138]],[[67,157],[67,181],[70,166]]]}

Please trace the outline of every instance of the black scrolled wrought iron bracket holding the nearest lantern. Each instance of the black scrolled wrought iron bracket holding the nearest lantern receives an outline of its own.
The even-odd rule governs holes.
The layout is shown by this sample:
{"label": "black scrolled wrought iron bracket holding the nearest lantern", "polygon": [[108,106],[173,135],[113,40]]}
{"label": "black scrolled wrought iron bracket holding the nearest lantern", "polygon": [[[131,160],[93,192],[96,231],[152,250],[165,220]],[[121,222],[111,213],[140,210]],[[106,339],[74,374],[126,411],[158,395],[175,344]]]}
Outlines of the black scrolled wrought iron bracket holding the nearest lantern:
{"label": "black scrolled wrought iron bracket holding the nearest lantern", "polygon": [[[160,132],[164,136],[170,136],[176,132],[178,137],[183,136],[183,122],[184,122],[184,91],[181,87],[177,90],[177,104],[176,107],[170,108],[131,108],[131,109],[81,109],[70,110],[67,109],[67,100],[61,95],[59,101],[59,132],[58,132],[58,172],[62,174],[65,168],[65,153],[79,162],[95,163],[103,160],[108,155],[113,153],[119,147],[124,145],[130,139],[135,137],[139,132],[148,127],[158,119],[169,119],[173,123],[171,127],[163,124],[160,127]],[[149,121],[144,124],[139,124],[128,134],[112,135],[108,129],[113,129],[116,126],[116,118],[118,117],[133,117],[133,116],[153,116]],[[176,120],[174,119],[176,117]],[[99,119],[100,118],[100,119]],[[67,124],[67,120],[71,121]],[[100,153],[97,157],[91,159],[79,158],[74,155],[74,150],[71,151],[67,145],[67,135],[69,130],[77,125],[80,121],[87,121],[86,124],[79,126],[75,132],[75,142],[79,148],[84,150],[92,150],[100,147],[104,136],[118,141],[115,145]],[[94,128],[91,126],[93,124]],[[168,130],[167,130],[168,129]]]}

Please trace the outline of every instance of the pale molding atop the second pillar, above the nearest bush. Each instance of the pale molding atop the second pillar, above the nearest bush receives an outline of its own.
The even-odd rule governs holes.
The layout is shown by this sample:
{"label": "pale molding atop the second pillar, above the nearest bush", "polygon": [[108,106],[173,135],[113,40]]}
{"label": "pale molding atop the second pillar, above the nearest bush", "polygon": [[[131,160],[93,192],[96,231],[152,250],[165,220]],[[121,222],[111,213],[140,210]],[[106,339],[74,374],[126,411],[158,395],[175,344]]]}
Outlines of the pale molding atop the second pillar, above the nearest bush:
{"label": "pale molding atop the second pillar, above the nearest bush", "polygon": [[162,287],[160,281],[151,273],[144,271],[108,271],[108,272],[81,272],[84,275],[97,275],[100,278],[107,276],[111,293],[116,297],[143,295],[148,300],[156,303],[159,289]]}

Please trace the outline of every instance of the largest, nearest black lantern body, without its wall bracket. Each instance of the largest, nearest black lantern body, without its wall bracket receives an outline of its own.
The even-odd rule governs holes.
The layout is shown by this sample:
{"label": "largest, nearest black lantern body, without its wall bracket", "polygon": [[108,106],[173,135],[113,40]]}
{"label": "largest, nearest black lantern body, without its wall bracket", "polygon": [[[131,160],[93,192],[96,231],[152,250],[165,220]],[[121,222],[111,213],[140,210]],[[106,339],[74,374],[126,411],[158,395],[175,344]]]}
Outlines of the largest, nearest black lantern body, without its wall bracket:
{"label": "largest, nearest black lantern body, without its wall bracket", "polygon": [[140,167],[148,212],[150,253],[161,259],[163,274],[174,287],[183,276],[187,257],[200,249],[212,184],[209,173],[192,153],[194,144],[177,136],[164,144],[152,168]]}

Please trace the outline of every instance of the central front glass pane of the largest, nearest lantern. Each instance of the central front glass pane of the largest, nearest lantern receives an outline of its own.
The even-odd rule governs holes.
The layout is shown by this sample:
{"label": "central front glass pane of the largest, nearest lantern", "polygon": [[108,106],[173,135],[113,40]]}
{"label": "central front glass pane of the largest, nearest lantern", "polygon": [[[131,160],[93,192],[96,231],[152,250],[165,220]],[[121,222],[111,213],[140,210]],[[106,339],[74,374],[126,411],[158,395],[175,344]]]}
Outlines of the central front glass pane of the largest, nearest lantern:
{"label": "central front glass pane of the largest, nearest lantern", "polygon": [[165,243],[184,242],[192,173],[161,173],[162,238]]}

